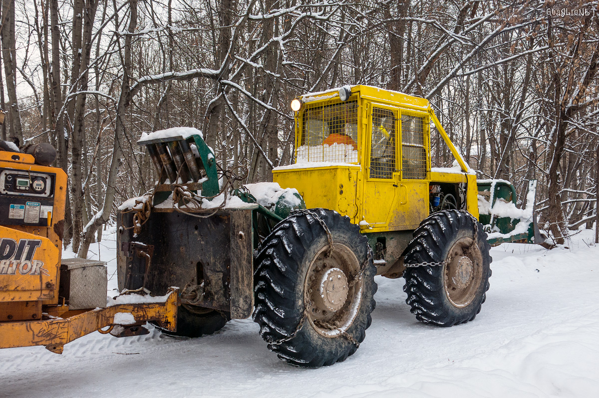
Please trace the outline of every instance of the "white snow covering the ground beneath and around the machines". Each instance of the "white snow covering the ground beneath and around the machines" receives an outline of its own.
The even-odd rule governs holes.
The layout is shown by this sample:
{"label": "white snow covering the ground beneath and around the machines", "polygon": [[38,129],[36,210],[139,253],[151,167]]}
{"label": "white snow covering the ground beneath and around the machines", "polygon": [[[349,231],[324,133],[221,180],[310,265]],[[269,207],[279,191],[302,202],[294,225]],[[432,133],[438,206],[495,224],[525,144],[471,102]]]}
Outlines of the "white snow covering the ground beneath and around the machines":
{"label": "white snow covering the ground beneath and around the machines", "polygon": [[[599,391],[599,247],[582,231],[569,248],[502,244],[481,313],[461,326],[416,321],[403,278],[377,277],[373,324],[343,363],[292,368],[251,320],[199,339],[152,329],[98,332],[65,346],[0,350],[0,397],[591,397]],[[590,246],[589,246],[590,245]],[[95,246],[95,247],[94,247]],[[92,245],[116,287],[114,234]],[[109,293],[114,293],[109,292]]]}

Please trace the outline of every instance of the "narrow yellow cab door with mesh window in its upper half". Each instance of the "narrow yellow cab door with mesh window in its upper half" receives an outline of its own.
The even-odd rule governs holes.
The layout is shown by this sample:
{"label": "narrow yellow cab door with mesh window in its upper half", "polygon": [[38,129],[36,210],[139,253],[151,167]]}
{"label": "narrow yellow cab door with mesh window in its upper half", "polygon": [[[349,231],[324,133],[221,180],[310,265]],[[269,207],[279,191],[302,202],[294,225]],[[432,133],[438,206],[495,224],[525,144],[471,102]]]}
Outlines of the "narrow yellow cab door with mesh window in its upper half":
{"label": "narrow yellow cab door with mesh window in its upper half", "polygon": [[367,111],[365,142],[368,150],[362,219],[375,231],[385,231],[389,229],[393,209],[397,207],[400,111],[380,104],[368,104]]}

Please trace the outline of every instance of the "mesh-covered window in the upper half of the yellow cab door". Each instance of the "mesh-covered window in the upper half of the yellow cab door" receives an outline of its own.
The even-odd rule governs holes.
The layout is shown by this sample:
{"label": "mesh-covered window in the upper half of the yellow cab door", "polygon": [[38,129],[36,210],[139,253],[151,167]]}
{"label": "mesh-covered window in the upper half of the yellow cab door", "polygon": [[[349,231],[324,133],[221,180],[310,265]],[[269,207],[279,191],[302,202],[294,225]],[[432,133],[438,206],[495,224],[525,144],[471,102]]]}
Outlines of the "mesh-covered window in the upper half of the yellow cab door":
{"label": "mesh-covered window in the upper half of the yellow cab door", "polygon": [[373,108],[370,177],[392,178],[395,172],[395,127],[397,117],[388,109]]}

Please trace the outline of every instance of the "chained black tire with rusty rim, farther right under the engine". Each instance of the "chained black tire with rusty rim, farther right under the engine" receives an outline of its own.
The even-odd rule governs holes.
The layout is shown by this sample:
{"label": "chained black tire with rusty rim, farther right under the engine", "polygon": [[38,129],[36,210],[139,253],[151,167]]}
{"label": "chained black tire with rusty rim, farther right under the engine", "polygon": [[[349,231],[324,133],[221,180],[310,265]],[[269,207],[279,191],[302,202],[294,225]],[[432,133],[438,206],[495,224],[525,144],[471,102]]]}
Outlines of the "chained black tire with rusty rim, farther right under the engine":
{"label": "chained black tire with rusty rim, farther right under the engine", "polygon": [[[477,228],[476,244],[474,228]],[[407,304],[420,322],[453,326],[480,312],[491,277],[491,256],[483,226],[460,210],[443,210],[414,231],[404,263],[441,263],[404,271]]]}

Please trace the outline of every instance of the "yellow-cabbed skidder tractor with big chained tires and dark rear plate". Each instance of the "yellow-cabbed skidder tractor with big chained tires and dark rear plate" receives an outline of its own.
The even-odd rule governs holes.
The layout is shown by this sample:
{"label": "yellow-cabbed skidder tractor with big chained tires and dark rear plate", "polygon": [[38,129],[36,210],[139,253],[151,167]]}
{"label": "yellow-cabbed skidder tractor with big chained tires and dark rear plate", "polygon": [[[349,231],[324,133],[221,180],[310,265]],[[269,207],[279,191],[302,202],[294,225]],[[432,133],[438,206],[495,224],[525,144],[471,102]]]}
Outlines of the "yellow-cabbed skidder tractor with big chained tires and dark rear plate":
{"label": "yellow-cabbed skidder tractor with big chained tires and dark rear plate", "polygon": [[[491,276],[476,175],[429,102],[355,85],[291,106],[296,162],[273,183],[219,184],[235,176],[193,128],[142,137],[159,180],[120,207],[119,288],[180,287],[177,329],[157,324],[171,335],[251,315],[271,351],[311,368],[358,349],[375,275],[406,279],[420,322],[473,320]],[[455,167],[431,167],[431,124]]]}

